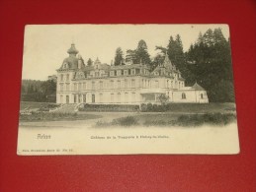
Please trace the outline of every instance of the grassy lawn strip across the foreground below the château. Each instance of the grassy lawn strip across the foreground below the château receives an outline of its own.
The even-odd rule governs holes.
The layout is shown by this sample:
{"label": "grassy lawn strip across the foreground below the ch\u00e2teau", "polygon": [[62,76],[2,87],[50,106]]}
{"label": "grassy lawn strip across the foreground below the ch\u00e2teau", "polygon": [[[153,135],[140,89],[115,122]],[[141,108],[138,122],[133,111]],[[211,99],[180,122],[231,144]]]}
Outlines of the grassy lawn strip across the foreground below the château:
{"label": "grassy lawn strip across the foreground below the ch\u00e2teau", "polygon": [[[21,109],[46,107],[46,102],[21,102]],[[54,103],[53,103],[54,104]],[[20,121],[74,121],[94,119],[96,127],[225,125],[236,120],[234,103],[172,103],[165,112],[32,112]]]}

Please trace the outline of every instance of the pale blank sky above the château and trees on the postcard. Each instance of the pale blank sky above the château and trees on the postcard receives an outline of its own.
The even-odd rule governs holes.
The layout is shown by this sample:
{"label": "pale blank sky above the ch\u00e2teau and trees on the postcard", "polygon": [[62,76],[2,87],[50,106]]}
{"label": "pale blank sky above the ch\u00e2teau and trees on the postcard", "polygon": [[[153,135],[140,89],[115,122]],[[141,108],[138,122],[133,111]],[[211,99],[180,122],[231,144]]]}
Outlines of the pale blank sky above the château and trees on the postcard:
{"label": "pale blank sky above the ch\u00e2teau and trees on the postcard", "polygon": [[28,25],[25,29],[22,79],[46,80],[56,74],[67,49],[75,43],[85,62],[99,57],[102,63],[114,60],[116,49],[135,49],[140,39],[145,40],[151,57],[166,47],[170,36],[181,35],[184,51],[194,43],[199,32],[220,28],[229,37],[227,25]]}

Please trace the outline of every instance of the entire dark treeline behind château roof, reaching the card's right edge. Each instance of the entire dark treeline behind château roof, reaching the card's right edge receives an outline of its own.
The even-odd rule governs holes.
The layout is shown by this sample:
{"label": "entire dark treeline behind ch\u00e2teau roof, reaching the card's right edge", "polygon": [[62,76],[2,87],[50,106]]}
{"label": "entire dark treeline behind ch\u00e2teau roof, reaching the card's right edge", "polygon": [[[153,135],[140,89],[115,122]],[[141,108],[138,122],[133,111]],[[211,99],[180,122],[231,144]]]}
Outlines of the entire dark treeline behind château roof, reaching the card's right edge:
{"label": "entire dark treeline behind ch\u00e2teau roof, reaching the card's right edge", "polygon": [[146,42],[140,40],[136,49],[127,50],[127,56],[121,47],[117,48],[115,65],[142,63],[151,71],[163,62],[166,52],[169,59],[182,73],[186,86],[198,82],[208,92],[212,102],[233,102],[233,75],[229,39],[225,39],[221,30],[209,29],[204,34],[199,33],[198,39],[191,44],[188,51],[183,50],[181,36],[170,36],[167,47],[156,46],[160,52],[150,58]]}

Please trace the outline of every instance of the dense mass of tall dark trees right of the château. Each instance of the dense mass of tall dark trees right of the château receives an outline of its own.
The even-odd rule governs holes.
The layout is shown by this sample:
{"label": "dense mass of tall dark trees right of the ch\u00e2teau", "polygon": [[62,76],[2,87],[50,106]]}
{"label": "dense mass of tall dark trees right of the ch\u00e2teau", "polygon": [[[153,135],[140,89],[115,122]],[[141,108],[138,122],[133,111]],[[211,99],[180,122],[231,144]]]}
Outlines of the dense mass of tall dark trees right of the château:
{"label": "dense mass of tall dark trees right of the ch\u00e2teau", "polygon": [[[186,53],[189,84],[197,81],[204,87],[210,101],[234,101],[230,44],[221,29],[209,29]],[[200,43],[199,43],[200,42]]]}

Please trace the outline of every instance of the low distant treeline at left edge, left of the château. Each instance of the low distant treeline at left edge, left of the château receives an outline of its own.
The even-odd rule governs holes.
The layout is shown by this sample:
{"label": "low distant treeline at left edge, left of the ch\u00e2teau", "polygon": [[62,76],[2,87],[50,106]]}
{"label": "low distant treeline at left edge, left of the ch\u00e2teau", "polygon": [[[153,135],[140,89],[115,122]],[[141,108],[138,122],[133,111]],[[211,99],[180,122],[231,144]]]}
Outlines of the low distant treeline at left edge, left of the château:
{"label": "low distant treeline at left edge, left of the ch\u00e2teau", "polygon": [[55,102],[56,83],[53,80],[22,80],[21,100]]}

